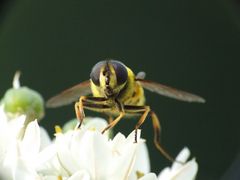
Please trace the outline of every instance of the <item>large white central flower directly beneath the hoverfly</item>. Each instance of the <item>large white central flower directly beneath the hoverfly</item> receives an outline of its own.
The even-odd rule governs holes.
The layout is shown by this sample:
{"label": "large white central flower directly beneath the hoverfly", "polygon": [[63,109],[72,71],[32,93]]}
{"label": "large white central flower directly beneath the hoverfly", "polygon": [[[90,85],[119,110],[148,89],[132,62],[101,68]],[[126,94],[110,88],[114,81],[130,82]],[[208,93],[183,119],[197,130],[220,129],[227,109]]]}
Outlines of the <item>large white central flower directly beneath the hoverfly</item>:
{"label": "large white central flower directly beneath the hoverfly", "polygon": [[[104,127],[105,123],[102,127],[97,126],[97,129],[102,130]],[[45,178],[46,175],[53,175],[63,179],[129,179],[135,166],[136,152],[144,143],[140,139],[140,130],[138,142],[134,143],[134,139],[133,131],[127,138],[118,133],[111,140],[89,125],[81,130],[57,133],[55,143],[40,154],[42,161],[38,172]],[[149,161],[144,163],[145,170],[139,169],[142,172],[149,170]]]}

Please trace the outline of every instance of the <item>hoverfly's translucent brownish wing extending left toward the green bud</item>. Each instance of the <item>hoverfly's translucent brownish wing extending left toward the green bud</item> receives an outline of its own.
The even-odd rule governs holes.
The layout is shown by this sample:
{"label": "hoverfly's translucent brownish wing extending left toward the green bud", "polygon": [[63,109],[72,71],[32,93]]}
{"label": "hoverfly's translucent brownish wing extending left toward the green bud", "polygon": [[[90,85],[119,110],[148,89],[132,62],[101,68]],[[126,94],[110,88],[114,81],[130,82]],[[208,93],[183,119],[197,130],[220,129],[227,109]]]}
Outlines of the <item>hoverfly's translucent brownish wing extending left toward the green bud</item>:
{"label": "hoverfly's translucent brownish wing extending left toward the green bud", "polygon": [[46,106],[50,108],[64,106],[76,101],[80,96],[91,94],[90,81],[84,81],[50,98]]}

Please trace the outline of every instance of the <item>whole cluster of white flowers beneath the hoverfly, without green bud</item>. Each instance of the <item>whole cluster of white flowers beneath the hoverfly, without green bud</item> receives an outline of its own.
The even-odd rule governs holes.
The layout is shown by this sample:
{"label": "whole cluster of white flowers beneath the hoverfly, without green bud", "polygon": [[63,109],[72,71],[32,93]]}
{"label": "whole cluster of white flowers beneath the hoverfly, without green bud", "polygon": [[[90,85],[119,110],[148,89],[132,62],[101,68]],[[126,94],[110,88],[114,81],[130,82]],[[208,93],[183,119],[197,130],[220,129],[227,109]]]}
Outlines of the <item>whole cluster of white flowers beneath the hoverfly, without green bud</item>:
{"label": "whole cluster of white flowers beneath the hoverfly, without green bud", "polygon": [[[150,172],[145,140],[102,134],[107,122],[89,118],[81,129],[56,126],[51,140],[27,113],[9,116],[0,106],[0,179],[6,180],[192,180],[198,165],[184,148],[171,167]],[[27,123],[26,123],[27,121]],[[73,126],[74,127],[74,126]],[[178,163],[179,161],[183,164]]]}

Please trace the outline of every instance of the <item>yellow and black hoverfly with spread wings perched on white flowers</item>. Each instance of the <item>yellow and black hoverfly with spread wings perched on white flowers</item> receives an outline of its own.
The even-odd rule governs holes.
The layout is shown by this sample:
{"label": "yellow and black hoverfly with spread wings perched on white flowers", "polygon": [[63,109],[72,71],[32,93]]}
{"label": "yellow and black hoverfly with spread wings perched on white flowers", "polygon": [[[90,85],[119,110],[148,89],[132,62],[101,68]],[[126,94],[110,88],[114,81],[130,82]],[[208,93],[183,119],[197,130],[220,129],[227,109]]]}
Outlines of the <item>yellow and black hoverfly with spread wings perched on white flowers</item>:
{"label": "yellow and black hoverfly with spread wings perched on white flowers", "polygon": [[[154,129],[154,144],[156,148],[170,161],[174,159],[160,144],[160,123],[150,106],[145,105],[143,88],[163,96],[186,102],[204,103],[205,100],[197,95],[177,90],[156,82],[145,80],[145,73],[136,76],[133,71],[120,61],[104,60],[93,66],[90,80],[77,84],[47,101],[47,107],[58,107],[75,103],[75,112],[79,126],[85,117],[84,109],[102,112],[109,115],[108,126],[102,131],[114,127],[125,115],[138,115],[140,119],[135,126],[135,142],[137,130],[149,114]],[[112,119],[112,117],[115,119]]]}

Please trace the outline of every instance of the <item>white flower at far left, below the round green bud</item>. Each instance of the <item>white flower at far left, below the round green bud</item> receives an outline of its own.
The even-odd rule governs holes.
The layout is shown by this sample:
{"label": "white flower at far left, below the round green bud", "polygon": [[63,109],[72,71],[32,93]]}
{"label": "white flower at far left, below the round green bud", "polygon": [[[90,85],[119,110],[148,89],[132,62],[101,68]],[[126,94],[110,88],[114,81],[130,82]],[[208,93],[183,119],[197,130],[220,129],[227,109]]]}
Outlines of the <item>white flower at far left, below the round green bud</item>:
{"label": "white flower at far left, below the round green bud", "polygon": [[[0,107],[0,179],[30,180],[38,177],[35,160],[43,130],[40,130],[37,121],[25,127],[25,118],[21,115],[10,120]],[[42,136],[47,139],[46,134]]]}

